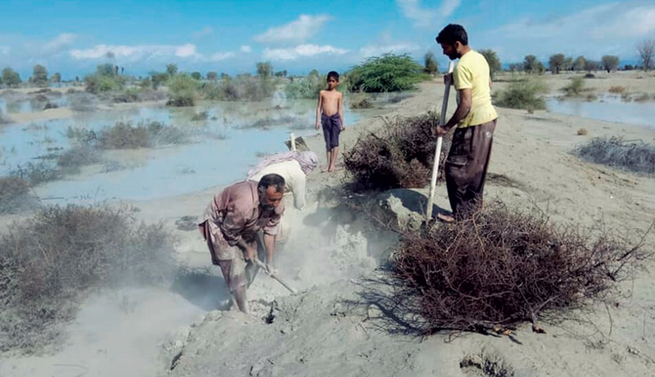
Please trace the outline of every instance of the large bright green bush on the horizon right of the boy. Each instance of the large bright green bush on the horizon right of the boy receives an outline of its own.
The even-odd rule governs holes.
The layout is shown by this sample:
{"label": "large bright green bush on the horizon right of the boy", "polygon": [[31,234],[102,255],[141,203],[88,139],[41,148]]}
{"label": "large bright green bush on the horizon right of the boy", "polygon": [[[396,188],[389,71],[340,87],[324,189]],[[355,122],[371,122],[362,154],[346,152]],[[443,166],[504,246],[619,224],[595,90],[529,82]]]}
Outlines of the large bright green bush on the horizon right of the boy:
{"label": "large bright green bush on the horizon right of the boy", "polygon": [[369,58],[346,73],[348,89],[365,92],[396,92],[413,89],[430,75],[409,55],[385,54]]}

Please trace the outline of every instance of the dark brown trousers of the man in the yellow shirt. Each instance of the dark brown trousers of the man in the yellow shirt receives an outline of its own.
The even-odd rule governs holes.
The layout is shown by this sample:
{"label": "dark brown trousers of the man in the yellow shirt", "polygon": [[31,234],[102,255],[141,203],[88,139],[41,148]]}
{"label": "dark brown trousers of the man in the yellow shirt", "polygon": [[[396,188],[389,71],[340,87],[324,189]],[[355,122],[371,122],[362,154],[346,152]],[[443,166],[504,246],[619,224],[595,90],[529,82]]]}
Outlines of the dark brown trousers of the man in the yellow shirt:
{"label": "dark brown trousers of the man in the yellow shirt", "polygon": [[496,130],[494,119],[458,128],[445,164],[446,188],[455,219],[466,219],[482,207],[482,191]]}

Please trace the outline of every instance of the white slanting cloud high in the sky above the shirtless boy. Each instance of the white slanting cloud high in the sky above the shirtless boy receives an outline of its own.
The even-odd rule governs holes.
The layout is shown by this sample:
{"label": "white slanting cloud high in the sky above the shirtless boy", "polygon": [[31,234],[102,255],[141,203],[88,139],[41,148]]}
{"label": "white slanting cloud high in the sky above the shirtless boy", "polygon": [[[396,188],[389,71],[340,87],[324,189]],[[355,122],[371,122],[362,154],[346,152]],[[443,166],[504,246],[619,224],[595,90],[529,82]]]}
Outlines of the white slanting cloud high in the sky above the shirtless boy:
{"label": "white slanting cloud high in the sky above the shirtless boy", "polygon": [[300,18],[281,27],[271,27],[264,34],[255,36],[255,41],[261,43],[302,43],[316,35],[329,16],[309,16],[302,14]]}

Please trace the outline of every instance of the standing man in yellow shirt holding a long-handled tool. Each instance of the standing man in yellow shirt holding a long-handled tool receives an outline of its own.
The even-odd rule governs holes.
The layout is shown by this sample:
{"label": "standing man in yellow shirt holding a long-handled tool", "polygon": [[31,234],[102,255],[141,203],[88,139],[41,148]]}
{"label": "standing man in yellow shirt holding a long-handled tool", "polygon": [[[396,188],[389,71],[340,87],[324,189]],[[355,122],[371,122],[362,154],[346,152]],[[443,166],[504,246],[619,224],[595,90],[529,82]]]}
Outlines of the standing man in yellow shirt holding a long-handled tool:
{"label": "standing man in yellow shirt holding a long-handled tool", "polygon": [[451,119],[436,127],[443,136],[457,125],[452,135],[451,150],[446,158],[446,187],[452,216],[438,214],[446,222],[466,219],[482,206],[482,190],[491,156],[491,144],[498,115],[491,104],[489,64],[468,46],[468,35],[460,25],[450,24],[437,35],[443,55],[459,63],[445,84],[454,81],[458,106]]}

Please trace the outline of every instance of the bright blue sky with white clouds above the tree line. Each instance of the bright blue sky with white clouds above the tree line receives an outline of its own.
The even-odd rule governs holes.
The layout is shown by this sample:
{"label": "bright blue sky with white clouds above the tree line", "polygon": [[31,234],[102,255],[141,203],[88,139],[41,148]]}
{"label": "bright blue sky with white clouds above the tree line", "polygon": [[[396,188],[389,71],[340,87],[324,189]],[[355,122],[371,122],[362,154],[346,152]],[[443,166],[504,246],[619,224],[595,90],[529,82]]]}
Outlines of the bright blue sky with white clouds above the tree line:
{"label": "bright blue sky with white clouds above the tree line", "polygon": [[503,63],[554,53],[634,62],[655,39],[655,3],[603,0],[165,1],[0,0],[0,67],[23,79],[35,64],[64,79],[108,61],[140,75],[176,63],[206,73],[254,71],[258,61],[290,73],[343,71],[384,52],[435,52],[449,22],[474,49]]}

